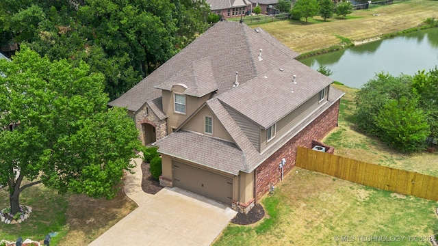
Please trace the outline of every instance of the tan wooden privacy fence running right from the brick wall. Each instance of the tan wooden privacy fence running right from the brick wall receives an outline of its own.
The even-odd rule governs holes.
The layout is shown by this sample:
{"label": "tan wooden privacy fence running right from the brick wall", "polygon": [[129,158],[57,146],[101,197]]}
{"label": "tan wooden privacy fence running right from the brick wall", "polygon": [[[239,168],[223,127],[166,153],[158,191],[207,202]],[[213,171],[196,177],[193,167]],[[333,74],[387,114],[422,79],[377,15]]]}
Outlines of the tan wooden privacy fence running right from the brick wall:
{"label": "tan wooden privacy fence running right from the brick wall", "polygon": [[296,167],[343,180],[438,201],[438,177],[365,163],[343,156],[298,147]]}

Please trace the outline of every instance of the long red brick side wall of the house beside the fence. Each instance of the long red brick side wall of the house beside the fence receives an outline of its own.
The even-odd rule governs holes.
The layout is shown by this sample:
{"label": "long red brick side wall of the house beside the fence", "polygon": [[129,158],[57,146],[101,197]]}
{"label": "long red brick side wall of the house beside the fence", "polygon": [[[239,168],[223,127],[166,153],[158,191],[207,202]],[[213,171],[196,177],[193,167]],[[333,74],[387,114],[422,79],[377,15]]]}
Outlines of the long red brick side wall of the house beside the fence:
{"label": "long red brick side wall of the house beside the fence", "polygon": [[312,140],[320,140],[327,135],[333,128],[337,126],[339,116],[339,100],[335,102],[329,109],[324,111],[318,118],[307,125],[300,133],[292,137],[287,143],[269,156],[266,161],[263,161],[256,172],[256,187],[255,187],[255,202],[268,193],[270,183],[276,184],[281,179],[281,169],[279,164],[281,159],[286,159],[286,164],[283,167],[284,175],[286,175],[295,165],[296,150],[298,146],[311,148]]}

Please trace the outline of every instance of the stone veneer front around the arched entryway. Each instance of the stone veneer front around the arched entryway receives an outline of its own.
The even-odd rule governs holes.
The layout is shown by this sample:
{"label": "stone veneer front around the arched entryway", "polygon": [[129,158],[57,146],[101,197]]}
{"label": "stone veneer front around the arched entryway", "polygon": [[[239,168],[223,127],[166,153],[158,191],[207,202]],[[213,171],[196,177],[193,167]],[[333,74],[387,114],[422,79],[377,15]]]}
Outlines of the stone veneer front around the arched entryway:
{"label": "stone veneer front around the arched entryway", "polygon": [[157,115],[152,111],[149,105],[144,105],[140,111],[136,113],[136,127],[140,131],[140,140],[144,144],[144,131],[142,124],[151,124],[155,127],[155,134],[157,140],[166,137],[167,135],[167,122],[166,120],[159,120]]}

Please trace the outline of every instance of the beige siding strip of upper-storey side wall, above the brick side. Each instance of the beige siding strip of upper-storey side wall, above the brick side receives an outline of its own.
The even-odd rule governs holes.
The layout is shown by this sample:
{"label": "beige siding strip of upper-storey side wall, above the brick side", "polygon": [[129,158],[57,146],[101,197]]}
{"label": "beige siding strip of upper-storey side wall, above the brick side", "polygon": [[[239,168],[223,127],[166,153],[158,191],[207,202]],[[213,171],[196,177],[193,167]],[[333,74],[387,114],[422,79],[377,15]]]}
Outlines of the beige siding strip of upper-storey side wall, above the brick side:
{"label": "beige siding strip of upper-storey side wall, above the brick side", "polygon": [[294,126],[296,126],[302,120],[307,118],[307,115],[309,115],[312,111],[317,109],[320,105],[322,105],[322,103],[326,102],[328,98],[328,94],[327,94],[328,90],[327,88],[325,90],[326,90],[326,94],[324,96],[324,100],[322,100],[321,102],[319,101],[320,94],[318,92],[318,94],[307,100],[307,102],[300,105],[297,109],[286,115],[283,119],[279,120],[279,122],[276,122],[275,137],[270,139],[270,141],[267,141],[267,135],[266,135],[267,131],[261,129],[260,131],[261,152],[265,150],[270,143],[274,143],[276,139],[279,139],[280,137],[285,135]]}

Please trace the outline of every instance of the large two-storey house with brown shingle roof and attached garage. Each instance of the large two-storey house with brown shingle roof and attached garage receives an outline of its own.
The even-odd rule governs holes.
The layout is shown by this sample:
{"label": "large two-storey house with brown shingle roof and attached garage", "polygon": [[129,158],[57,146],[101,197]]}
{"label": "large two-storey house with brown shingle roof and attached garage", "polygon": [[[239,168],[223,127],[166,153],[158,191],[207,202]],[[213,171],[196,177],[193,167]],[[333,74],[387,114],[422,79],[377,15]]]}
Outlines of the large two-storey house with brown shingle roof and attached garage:
{"label": "large two-storey house with brown shingle roof and attached garage", "polygon": [[[233,38],[229,38],[232,36]],[[260,28],[219,22],[110,102],[127,107],[143,143],[162,154],[160,184],[247,213],[337,126],[332,79],[296,61]]]}

